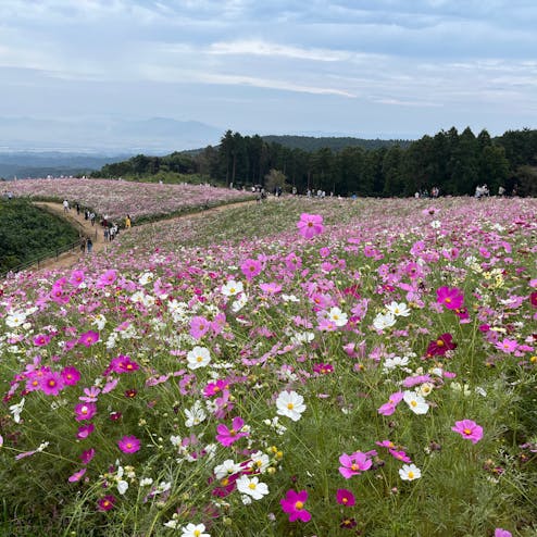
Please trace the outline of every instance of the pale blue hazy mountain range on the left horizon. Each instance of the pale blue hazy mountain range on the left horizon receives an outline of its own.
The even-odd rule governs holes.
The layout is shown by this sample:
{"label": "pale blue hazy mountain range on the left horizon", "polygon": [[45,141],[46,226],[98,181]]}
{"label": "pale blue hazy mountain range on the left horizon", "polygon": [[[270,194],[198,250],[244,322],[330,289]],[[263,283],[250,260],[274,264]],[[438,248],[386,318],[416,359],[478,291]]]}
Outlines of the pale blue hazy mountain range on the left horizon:
{"label": "pale blue hazy mountain range on the left horizon", "polygon": [[85,121],[0,117],[0,151],[165,154],[217,143],[222,132],[204,123],[170,117]]}

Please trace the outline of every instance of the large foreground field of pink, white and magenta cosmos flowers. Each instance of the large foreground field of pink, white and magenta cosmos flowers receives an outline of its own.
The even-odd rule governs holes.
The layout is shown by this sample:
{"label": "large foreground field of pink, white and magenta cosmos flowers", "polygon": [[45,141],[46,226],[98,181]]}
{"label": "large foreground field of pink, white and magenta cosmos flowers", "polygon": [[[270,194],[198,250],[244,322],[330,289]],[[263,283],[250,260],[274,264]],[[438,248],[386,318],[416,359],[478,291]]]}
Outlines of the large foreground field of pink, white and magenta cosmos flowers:
{"label": "large foreground field of pink, white and magenta cosmos flowers", "polygon": [[0,528],[535,536],[537,201],[283,199],[0,297]]}

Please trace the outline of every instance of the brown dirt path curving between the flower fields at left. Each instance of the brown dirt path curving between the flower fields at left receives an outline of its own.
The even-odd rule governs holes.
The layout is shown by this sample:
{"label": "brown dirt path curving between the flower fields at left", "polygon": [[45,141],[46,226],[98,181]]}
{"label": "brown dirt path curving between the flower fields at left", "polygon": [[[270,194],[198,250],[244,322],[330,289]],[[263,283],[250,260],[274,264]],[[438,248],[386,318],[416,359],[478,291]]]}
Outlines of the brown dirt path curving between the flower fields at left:
{"label": "brown dirt path curving between the flower fields at left", "polygon": [[[171,216],[170,218],[165,218],[165,220],[200,217],[203,214],[207,214],[208,212],[221,212],[233,207],[254,204],[254,203],[255,200],[225,203],[222,205],[216,205],[210,209],[205,209],[203,211],[197,211],[186,214],[179,214],[177,216]],[[89,220],[84,218],[84,213],[82,211],[80,214],[76,214],[76,209],[71,208],[68,212],[65,212],[61,203],[53,203],[50,201],[36,201],[34,202],[34,204],[45,209],[46,211],[51,212],[52,214],[55,214],[66,220],[71,225],[73,225],[76,229],[78,229],[80,235],[84,235],[85,237],[91,237],[91,241],[93,242],[93,248],[92,248],[93,253],[99,253],[102,250],[105,250],[108,241],[104,240],[104,234],[102,227],[98,223],[96,223],[95,226],[92,226]],[[164,222],[164,220],[162,222]],[[154,225],[154,223],[141,224],[141,226],[143,225]],[[128,233],[128,229],[122,229],[122,233]],[[74,250],[60,254],[58,258],[50,258],[48,260],[40,261],[36,270],[41,271],[41,270],[68,268],[74,266],[76,263],[78,263],[84,255],[91,255],[91,254],[88,254],[87,252],[83,253],[80,251],[80,248],[75,248]]]}

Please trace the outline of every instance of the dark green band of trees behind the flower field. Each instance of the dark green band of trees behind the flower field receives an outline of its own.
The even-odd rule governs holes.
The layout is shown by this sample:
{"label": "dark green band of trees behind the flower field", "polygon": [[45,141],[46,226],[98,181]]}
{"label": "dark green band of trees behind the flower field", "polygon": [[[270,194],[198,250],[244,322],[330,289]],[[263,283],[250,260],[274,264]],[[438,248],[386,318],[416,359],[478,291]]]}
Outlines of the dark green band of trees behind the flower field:
{"label": "dark green band of trees behind the flower field", "polygon": [[487,130],[476,136],[470,127],[462,133],[452,127],[415,141],[322,138],[329,147],[321,148],[313,140],[227,130],[217,147],[165,157],[138,154],[92,176],[164,182],[175,177],[250,188],[264,185],[271,171],[277,171],[285,175],[286,188],[299,193],[321,189],[391,197],[436,187],[440,195],[463,196],[486,184],[494,195],[501,186],[508,195],[537,196],[537,130],[508,130],[492,138]]}

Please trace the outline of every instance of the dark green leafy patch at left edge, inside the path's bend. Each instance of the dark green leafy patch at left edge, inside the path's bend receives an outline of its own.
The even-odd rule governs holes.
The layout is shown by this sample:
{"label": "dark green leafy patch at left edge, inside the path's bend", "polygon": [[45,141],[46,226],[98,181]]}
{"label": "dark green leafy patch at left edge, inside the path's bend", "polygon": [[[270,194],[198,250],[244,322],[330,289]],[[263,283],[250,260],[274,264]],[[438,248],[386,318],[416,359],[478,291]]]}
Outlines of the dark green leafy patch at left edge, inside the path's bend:
{"label": "dark green leafy patch at left edge, inside the path's bend", "polygon": [[62,218],[26,200],[0,200],[0,274],[78,239],[77,230]]}

